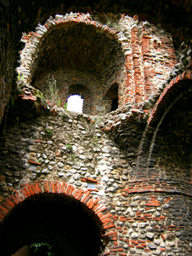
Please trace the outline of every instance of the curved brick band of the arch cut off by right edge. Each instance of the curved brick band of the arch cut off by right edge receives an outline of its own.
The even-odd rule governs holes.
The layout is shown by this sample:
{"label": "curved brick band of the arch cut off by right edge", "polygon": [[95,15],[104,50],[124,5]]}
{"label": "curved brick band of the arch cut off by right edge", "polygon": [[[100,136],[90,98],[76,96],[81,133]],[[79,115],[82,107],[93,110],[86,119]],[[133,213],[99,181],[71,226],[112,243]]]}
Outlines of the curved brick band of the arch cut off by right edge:
{"label": "curved brick band of the arch cut off by right edge", "polygon": [[[146,170],[146,169],[152,170],[153,168],[155,168],[154,166],[156,166],[155,164],[156,159],[154,157],[154,151],[156,151],[157,146],[160,145],[159,143],[162,140],[162,138],[164,138],[164,136],[166,136],[166,134],[168,134],[171,131],[171,129],[170,131],[169,129],[167,129],[168,131],[163,130],[166,127],[165,124],[169,122],[170,128],[172,127],[173,129],[172,125],[173,125],[173,122],[175,122],[175,118],[176,118],[175,115],[177,114],[179,115],[179,112],[182,111],[182,104],[180,102],[182,102],[182,99],[185,99],[186,97],[189,97],[189,99],[191,99],[190,97],[191,92],[192,92],[191,70],[188,70],[183,74],[180,74],[180,76],[175,77],[174,79],[172,79],[172,81],[169,84],[166,85],[159,99],[157,100],[156,105],[154,106],[154,108],[150,113],[147,127],[143,132],[143,137],[141,139],[140,147],[138,149],[138,160],[137,160],[138,170],[140,170],[140,168],[143,168],[143,170]],[[190,106],[190,103],[189,103],[189,106]],[[182,112],[182,115],[185,115],[186,111],[188,111],[188,109],[184,109],[184,111]],[[181,118],[180,122],[182,120],[182,117],[183,116],[180,117]],[[177,125],[175,125],[175,129],[176,128],[177,128]],[[160,134],[162,133],[161,138],[159,138],[160,136],[159,131],[160,131]],[[163,132],[164,132],[164,135],[163,135]],[[175,131],[175,134],[176,134],[176,131]],[[175,134],[172,134],[172,137],[175,136]],[[182,132],[180,133],[180,136],[182,136]],[[175,138],[175,141],[178,142],[178,140],[181,140],[181,138],[177,138],[177,139]],[[161,166],[159,166],[158,168],[161,169]],[[180,166],[180,170],[182,169],[183,169],[183,166]],[[147,173],[147,175],[149,175],[149,172]],[[187,182],[189,181],[190,180],[187,180]]]}

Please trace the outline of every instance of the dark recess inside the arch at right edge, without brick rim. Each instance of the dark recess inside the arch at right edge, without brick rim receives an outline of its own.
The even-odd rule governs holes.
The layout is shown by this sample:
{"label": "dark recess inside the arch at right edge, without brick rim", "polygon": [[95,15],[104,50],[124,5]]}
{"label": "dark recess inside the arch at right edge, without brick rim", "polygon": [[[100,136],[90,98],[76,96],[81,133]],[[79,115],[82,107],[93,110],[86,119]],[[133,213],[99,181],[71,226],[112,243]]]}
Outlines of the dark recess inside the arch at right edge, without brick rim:
{"label": "dark recess inside the arch at right edge, without brick rim", "polygon": [[149,167],[160,167],[168,177],[191,181],[192,93],[177,100],[164,116],[152,145]]}

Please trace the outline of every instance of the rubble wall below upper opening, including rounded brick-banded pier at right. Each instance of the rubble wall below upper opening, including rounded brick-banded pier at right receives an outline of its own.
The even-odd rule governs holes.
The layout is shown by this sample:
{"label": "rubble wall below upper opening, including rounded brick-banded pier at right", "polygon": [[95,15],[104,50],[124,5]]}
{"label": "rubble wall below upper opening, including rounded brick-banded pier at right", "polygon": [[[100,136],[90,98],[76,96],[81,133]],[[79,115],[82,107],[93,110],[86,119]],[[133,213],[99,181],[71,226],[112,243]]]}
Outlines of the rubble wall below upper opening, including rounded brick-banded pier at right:
{"label": "rubble wall below upper opening, including rounded brick-banded pier at right", "polygon": [[135,179],[134,154],[100,131],[102,121],[61,112],[8,129],[1,143],[1,219],[15,189],[32,196],[33,182],[65,181],[106,205],[105,255],[191,255],[190,191],[175,191],[152,172]]}

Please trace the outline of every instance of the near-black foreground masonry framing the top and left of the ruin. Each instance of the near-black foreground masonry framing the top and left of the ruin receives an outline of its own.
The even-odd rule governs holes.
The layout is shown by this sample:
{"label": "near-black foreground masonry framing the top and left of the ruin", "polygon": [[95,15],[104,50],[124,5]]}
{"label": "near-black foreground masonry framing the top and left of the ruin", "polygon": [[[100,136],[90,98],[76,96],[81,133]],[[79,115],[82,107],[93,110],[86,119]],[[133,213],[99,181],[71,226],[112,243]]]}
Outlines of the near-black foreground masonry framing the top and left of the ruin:
{"label": "near-black foreground masonry framing the top and left of the ruin", "polygon": [[[191,8],[189,1],[168,1],[164,4],[154,3],[148,0],[138,3],[111,3],[111,1],[86,1],[79,3],[74,1],[63,3],[63,1],[35,1],[25,3],[24,0],[1,1],[1,118],[4,108],[8,103],[12,86],[14,68],[17,67],[17,52],[20,51],[20,36],[22,33],[33,30],[38,22],[44,24],[50,15],[54,17],[57,13],[70,12],[98,12],[98,13],[125,13],[133,17],[138,14],[140,20],[148,20],[152,24],[161,26],[172,33],[174,43],[179,49],[180,44],[185,41],[190,44],[191,38]],[[22,12],[25,10],[25,12]],[[118,15],[117,15],[118,16]],[[128,61],[129,62],[129,61]],[[11,71],[12,70],[12,71]],[[15,77],[14,77],[15,78]],[[14,83],[13,83],[14,85]]]}

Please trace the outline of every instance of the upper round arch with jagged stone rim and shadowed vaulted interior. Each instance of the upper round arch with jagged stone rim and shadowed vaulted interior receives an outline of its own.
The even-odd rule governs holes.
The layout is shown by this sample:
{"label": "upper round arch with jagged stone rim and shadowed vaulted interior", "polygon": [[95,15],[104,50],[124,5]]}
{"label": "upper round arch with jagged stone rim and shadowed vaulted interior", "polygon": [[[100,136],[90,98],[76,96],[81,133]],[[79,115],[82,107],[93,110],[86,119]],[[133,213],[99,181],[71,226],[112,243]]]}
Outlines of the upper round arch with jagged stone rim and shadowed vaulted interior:
{"label": "upper round arch with jagged stone rim and shadowed vaulted interior", "polygon": [[104,90],[124,79],[122,45],[125,47],[127,42],[119,40],[114,28],[95,22],[89,14],[50,17],[44,26],[38,24],[35,32],[22,36],[22,41],[26,46],[17,68],[17,83],[22,83],[27,93],[22,99],[29,99],[29,92],[33,95],[30,99],[38,97],[36,89],[46,93],[50,75],[57,81],[61,106],[67,102],[71,84],[93,92],[89,96],[93,106],[84,113],[94,115],[97,106],[102,105]]}

